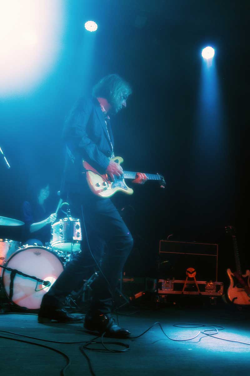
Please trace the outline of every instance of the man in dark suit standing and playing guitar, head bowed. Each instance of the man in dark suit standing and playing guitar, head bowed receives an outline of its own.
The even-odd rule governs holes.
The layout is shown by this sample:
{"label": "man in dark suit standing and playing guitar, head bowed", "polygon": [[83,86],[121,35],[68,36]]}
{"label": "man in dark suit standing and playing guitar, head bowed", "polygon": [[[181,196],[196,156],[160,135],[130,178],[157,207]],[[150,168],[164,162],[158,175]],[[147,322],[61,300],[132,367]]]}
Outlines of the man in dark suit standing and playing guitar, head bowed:
{"label": "man in dark suit standing and playing guitar, head bowed", "polygon": [[[115,324],[111,310],[114,291],[133,247],[133,238],[111,200],[91,192],[83,171],[84,160],[99,174],[107,174],[110,181],[122,176],[122,167],[111,160],[114,140],[109,115],[125,108],[130,94],[130,85],[117,74],[110,74],[94,86],[92,98],[78,100],[66,119],[63,129],[66,162],[61,194],[69,202],[72,216],[81,220],[83,229],[86,226],[87,237],[82,252],[67,265],[44,295],[38,315],[40,323],[79,320],[62,309],[62,304],[83,279],[93,274],[96,260],[105,250],[101,271],[91,285],[92,303],[84,327],[89,331],[105,332],[111,337],[130,335],[127,329]],[[143,184],[146,180],[146,174],[137,173],[133,182]]]}

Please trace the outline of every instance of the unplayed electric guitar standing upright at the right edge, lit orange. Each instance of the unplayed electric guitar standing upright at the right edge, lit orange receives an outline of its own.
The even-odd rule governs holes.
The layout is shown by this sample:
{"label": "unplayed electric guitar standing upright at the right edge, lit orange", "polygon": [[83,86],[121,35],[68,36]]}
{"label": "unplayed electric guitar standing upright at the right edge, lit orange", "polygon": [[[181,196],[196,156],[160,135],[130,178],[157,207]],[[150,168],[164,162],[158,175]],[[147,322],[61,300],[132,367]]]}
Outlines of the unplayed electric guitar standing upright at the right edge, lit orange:
{"label": "unplayed electric guitar standing upright at the right edge, lit orange", "polygon": [[227,269],[227,275],[229,276],[230,285],[227,290],[228,299],[239,305],[250,304],[250,284],[249,277],[250,271],[246,270],[245,274],[241,272],[241,264],[239,261],[238,244],[235,235],[235,229],[232,226],[226,226],[226,233],[231,235],[233,240],[233,249],[236,262],[236,271],[232,273],[230,269]]}

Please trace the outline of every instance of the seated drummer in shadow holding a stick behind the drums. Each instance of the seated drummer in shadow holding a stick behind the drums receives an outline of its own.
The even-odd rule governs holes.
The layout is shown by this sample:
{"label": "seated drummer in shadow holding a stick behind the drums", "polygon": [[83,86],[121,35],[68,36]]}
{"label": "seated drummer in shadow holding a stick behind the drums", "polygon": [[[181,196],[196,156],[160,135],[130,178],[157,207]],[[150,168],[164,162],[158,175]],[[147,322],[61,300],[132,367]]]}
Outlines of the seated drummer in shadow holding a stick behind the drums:
{"label": "seated drummer in shadow holding a stick behind the drums", "polygon": [[44,246],[51,238],[51,224],[57,218],[48,205],[50,186],[46,181],[38,182],[32,187],[29,201],[23,203],[23,239],[24,244]]}

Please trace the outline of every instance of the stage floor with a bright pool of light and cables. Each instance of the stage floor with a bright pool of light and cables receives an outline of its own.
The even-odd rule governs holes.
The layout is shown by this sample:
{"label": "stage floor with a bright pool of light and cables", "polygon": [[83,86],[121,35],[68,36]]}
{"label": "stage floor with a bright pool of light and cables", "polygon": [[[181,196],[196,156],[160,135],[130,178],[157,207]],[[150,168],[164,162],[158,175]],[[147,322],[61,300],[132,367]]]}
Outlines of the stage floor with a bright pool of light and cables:
{"label": "stage floor with a bright pool of light and cables", "polygon": [[[124,313],[130,313],[131,307]],[[208,327],[181,328],[176,323],[220,325],[215,337],[250,344],[250,312],[223,308],[183,308],[165,307],[161,309],[138,309],[131,315],[119,315],[120,326],[128,328],[136,337],[159,321],[167,335],[175,340],[194,337],[200,330]],[[20,337],[29,335],[53,341],[90,341],[93,334],[84,332],[83,324],[39,324],[34,314],[1,314],[0,335],[18,340],[31,341],[60,350],[70,358],[71,364],[65,370],[66,376],[91,375],[89,363],[79,349],[80,344],[57,344]],[[209,332],[212,333],[212,332]],[[203,337],[203,338],[202,338]],[[96,352],[85,350],[96,376],[236,376],[249,373],[250,345],[229,342],[200,334],[189,341],[173,341],[164,336],[157,324],[142,337],[131,340],[114,340],[129,344],[125,353]],[[100,345],[93,345],[103,349]],[[123,347],[110,345],[111,349]],[[66,365],[66,359],[60,353],[30,343],[0,339],[0,374],[3,376],[59,376]]]}

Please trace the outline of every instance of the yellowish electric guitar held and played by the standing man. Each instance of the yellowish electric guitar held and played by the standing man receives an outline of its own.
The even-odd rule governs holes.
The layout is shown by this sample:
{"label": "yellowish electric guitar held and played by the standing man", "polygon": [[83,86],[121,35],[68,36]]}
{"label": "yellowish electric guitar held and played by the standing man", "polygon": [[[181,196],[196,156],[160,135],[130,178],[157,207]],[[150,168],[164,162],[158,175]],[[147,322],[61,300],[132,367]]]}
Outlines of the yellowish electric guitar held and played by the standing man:
{"label": "yellowish electric guitar held and played by the standing man", "polygon": [[[123,162],[122,157],[111,158],[112,161],[121,164]],[[90,190],[99,197],[111,197],[116,192],[123,192],[127,194],[133,194],[133,189],[127,186],[124,179],[136,179],[136,172],[123,171],[121,177],[114,176],[114,181],[111,182],[107,174],[99,174],[89,163],[83,161],[83,167],[85,169],[87,183]],[[164,188],[166,182],[164,177],[159,174],[146,174],[149,180],[158,180],[161,188]]]}

